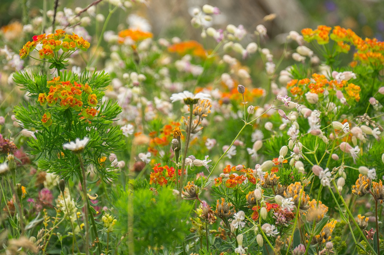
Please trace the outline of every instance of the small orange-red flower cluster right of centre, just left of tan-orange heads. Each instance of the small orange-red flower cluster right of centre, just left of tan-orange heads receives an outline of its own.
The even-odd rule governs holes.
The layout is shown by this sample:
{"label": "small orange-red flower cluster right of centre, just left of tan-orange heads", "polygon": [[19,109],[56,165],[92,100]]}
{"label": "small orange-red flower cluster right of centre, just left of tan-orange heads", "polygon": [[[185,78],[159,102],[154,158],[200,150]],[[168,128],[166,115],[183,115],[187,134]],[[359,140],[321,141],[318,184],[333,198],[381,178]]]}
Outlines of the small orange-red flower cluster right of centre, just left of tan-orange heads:
{"label": "small orange-red flower cluster right of centre, just left of tan-orange heads", "polygon": [[[227,165],[224,169],[223,169],[223,173],[230,173],[230,172],[240,172],[240,173],[244,173],[242,175],[240,175],[240,173],[232,173],[231,175],[229,175],[229,179],[227,181],[225,181],[225,186],[227,188],[234,188],[236,187],[238,184],[241,184],[243,183],[243,181],[245,181],[247,178],[248,180],[253,183],[253,184],[256,184],[256,178],[252,175],[253,173],[253,170],[251,168],[245,168],[243,166],[243,168],[241,170],[237,170],[236,169],[236,166],[233,166],[231,168],[230,165]],[[219,186],[221,185],[223,182],[222,180],[222,177],[218,177],[218,178],[215,178],[215,186]]]}

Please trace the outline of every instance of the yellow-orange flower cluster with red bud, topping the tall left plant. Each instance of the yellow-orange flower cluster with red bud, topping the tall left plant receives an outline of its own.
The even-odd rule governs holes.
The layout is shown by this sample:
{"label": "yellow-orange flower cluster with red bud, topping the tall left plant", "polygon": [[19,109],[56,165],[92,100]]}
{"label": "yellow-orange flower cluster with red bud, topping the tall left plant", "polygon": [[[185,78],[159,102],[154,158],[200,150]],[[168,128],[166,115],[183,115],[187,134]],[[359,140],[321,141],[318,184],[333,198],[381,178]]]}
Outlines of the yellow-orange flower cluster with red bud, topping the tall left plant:
{"label": "yellow-orange flower cluster with red bud, topping the tall left plant", "polygon": [[[64,39],[60,41],[63,36]],[[60,49],[64,52],[76,51],[76,48],[87,51],[90,46],[88,41],[84,40],[83,37],[79,37],[77,34],[65,34],[65,31],[62,29],[56,30],[55,34],[35,35],[32,39],[33,41],[29,41],[20,49],[19,55],[21,59],[27,57],[29,53],[36,48],[36,45],[40,43],[43,44],[43,48],[39,51],[41,59],[53,58],[55,56],[54,52]]]}

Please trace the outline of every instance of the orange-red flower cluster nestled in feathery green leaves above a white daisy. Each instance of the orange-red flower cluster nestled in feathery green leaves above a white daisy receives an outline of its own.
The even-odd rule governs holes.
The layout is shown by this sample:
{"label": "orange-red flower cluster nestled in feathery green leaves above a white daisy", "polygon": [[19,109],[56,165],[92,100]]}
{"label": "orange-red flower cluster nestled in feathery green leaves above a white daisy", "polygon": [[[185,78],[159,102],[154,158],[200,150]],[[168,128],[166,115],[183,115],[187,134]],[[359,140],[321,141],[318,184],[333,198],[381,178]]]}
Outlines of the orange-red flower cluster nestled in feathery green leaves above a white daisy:
{"label": "orange-red flower cluster nestled in feathery green leaves above a white daisy", "polygon": [[[73,108],[75,111],[81,111],[81,115],[84,118],[93,119],[97,111],[94,108],[97,105],[96,94],[91,94],[92,89],[88,83],[81,84],[77,82],[71,83],[71,81],[60,81],[60,76],[53,78],[47,82],[47,87],[50,89],[48,95],[46,93],[40,93],[38,101],[40,105],[48,104],[48,106],[54,106],[60,99],[60,107],[63,109]],[[88,105],[91,107],[83,108],[82,93],[88,94]],[[51,115],[45,113],[43,119],[43,125],[50,126],[52,120]]]}

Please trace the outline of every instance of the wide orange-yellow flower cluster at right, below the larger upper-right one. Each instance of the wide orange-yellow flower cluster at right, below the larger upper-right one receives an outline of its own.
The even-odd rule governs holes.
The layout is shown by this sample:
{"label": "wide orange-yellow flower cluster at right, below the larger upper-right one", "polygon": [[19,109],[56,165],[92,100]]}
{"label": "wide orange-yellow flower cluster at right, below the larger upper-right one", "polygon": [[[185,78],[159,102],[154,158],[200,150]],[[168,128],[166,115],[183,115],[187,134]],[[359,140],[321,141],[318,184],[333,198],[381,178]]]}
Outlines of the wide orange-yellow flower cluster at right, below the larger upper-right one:
{"label": "wide orange-yellow flower cluster at right, below the larger upper-right one", "polygon": [[338,82],[337,80],[328,81],[324,75],[313,74],[312,78],[304,78],[301,80],[291,80],[287,83],[287,89],[292,95],[301,96],[306,92],[322,94],[328,90],[344,90],[347,94],[347,99],[360,100],[360,87],[353,83],[348,83],[345,80]]}

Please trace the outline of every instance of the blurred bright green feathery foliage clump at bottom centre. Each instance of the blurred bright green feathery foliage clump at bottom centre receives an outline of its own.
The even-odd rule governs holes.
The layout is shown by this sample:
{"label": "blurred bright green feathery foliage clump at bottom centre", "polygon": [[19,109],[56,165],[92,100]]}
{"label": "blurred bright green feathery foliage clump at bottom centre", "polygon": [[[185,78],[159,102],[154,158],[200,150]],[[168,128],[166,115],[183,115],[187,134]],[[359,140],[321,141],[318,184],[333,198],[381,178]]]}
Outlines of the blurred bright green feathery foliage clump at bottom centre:
{"label": "blurred bright green feathery foliage clump at bottom centre", "polygon": [[[191,204],[178,202],[170,189],[137,189],[132,193],[117,187],[112,197],[112,213],[118,219],[116,225],[122,234],[133,231],[137,253],[149,246],[175,248],[189,229],[187,219]],[[127,222],[132,222],[132,229],[127,229]]]}

